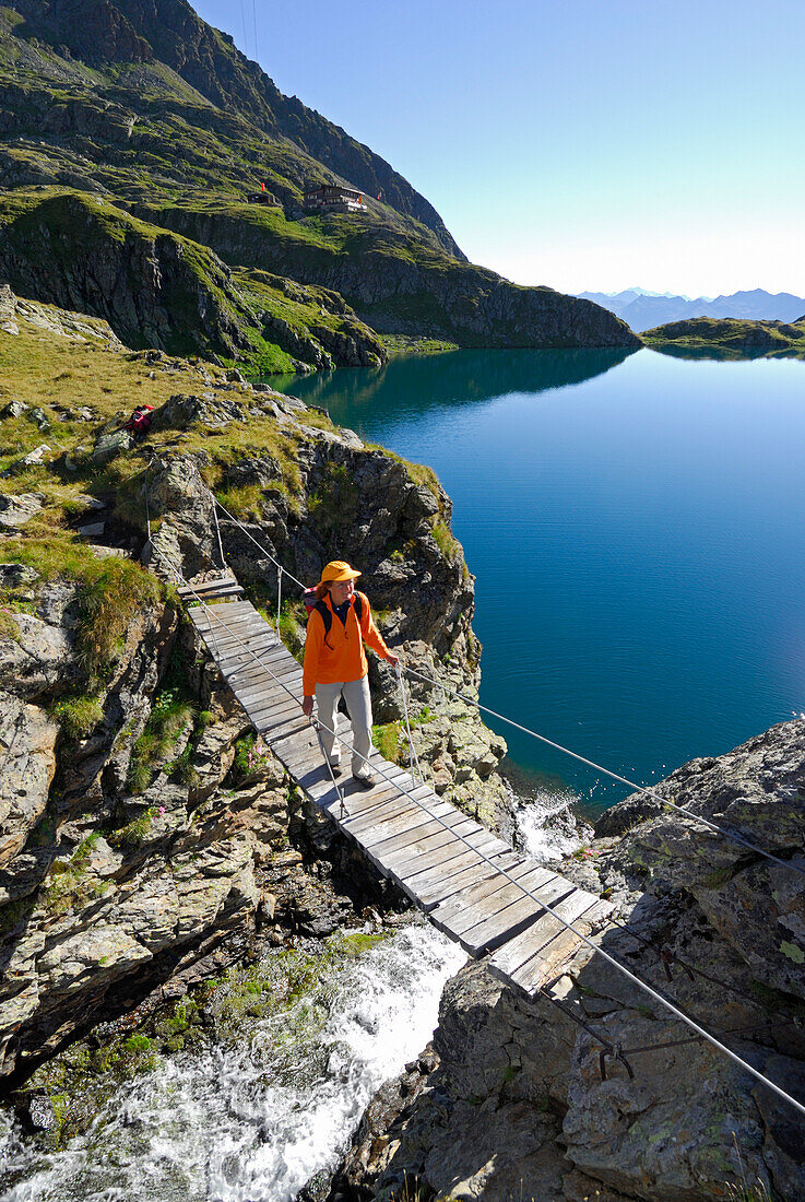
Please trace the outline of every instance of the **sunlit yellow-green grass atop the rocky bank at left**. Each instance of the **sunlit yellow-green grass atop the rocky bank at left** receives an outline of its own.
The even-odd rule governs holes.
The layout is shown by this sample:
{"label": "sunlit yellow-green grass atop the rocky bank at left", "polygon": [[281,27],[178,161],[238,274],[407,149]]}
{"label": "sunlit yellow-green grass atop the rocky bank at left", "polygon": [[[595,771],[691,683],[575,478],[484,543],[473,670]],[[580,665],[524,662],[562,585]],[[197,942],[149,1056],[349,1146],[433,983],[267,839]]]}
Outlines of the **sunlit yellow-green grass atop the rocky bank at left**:
{"label": "sunlit yellow-green grass atop the rocky bank at left", "polygon": [[[34,309],[70,325],[70,315],[53,307]],[[0,561],[29,563],[43,576],[93,578],[102,561],[77,534],[78,525],[93,520],[85,498],[107,500],[112,517],[103,517],[142,535],[145,529],[142,480],[151,451],[203,452],[202,475],[214,489],[226,489],[227,469],[238,458],[270,457],[280,466],[279,488],[291,504],[300,495],[298,451],[299,439],[306,435],[257,411],[255,406],[263,401],[263,394],[252,392],[248,385],[228,382],[223,369],[203,361],[121,350],[109,344],[108,327],[93,319],[80,317],[80,340],[42,328],[20,315],[17,321],[17,335],[0,329],[0,410],[12,400],[23,401],[30,410],[41,411],[50,428],[40,430],[30,412],[0,418],[0,472],[41,444],[48,447],[42,464],[13,470],[2,481],[2,493],[35,492],[42,498],[43,508],[19,534],[0,540]],[[95,329],[96,337],[90,329]],[[177,393],[210,391],[220,391],[225,399],[244,406],[248,419],[231,422],[222,429],[198,423],[178,429],[155,423],[131,452],[105,466],[93,463],[90,452],[97,436],[119,429],[136,405],[159,409]],[[88,409],[93,415],[89,421]],[[314,409],[305,412],[304,427],[334,429],[330,419]],[[434,480],[427,468],[409,464],[407,470],[419,483]],[[226,499],[233,505],[244,500],[228,492]]]}

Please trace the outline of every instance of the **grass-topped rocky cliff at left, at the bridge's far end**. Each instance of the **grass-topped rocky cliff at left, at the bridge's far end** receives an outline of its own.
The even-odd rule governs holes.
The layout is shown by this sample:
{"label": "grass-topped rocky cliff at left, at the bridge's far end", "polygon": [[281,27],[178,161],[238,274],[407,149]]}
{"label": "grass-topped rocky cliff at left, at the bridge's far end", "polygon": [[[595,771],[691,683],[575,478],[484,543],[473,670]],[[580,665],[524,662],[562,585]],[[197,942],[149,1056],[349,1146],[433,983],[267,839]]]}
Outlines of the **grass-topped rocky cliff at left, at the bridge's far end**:
{"label": "grass-topped rocky cliff at left, at the bridge's far end", "polygon": [[[275,605],[276,577],[249,536],[302,579],[359,563],[387,639],[436,679],[475,688],[479,648],[427,469],[235,371],[0,300],[0,1072],[18,1083],[101,1019],[242,960],[258,934],[401,904],[304,813],[183,613],[166,564],[221,571],[210,488],[243,519],[221,536],[258,603]],[[136,441],[123,419],[145,401]],[[284,595],[298,651],[304,606],[287,582]],[[389,676],[374,665],[378,738],[402,758]],[[460,708],[455,737],[423,689],[416,738],[439,791],[494,821],[505,745]]]}

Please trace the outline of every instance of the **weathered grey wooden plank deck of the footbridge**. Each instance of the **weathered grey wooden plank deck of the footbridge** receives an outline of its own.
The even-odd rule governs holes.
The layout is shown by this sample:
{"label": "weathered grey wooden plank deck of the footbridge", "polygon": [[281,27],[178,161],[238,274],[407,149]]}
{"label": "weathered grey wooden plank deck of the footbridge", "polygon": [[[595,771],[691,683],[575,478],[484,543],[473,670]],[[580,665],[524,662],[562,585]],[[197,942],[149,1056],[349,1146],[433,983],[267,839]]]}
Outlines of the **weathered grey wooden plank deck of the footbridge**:
{"label": "weathered grey wooden plank deck of the footbridge", "polygon": [[[219,595],[232,587],[237,582]],[[209,588],[204,599],[214,595]],[[196,606],[190,617],[255,730],[303,792],[440,930],[471,956],[489,956],[495,975],[533,996],[580,946],[555,915],[585,935],[606,923],[608,902],[513,851],[377,752],[372,764],[390,779],[363,790],[348,772],[340,776],[344,813],[302,713],[302,668],[276,632],[248,601]],[[341,715],[339,724],[348,766],[351,732]]]}

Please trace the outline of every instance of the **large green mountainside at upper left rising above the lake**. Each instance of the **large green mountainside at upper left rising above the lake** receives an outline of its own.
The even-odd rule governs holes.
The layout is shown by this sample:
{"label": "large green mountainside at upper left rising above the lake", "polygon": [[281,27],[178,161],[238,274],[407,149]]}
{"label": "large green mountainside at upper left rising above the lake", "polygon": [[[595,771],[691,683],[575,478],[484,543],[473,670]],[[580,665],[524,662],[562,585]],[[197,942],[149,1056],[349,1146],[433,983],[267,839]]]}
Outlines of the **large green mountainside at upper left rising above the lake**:
{"label": "large green mountainside at upper left rising above the lake", "polygon": [[[467,263],[439,214],[388,163],[281,96],[184,0],[16,0],[0,10],[0,198],[13,202],[0,212],[0,276],[35,299],[106,317],[130,345],[187,353],[203,343],[208,355],[263,370],[272,347],[320,365],[315,350],[299,353],[296,334],[336,365],[371,361],[374,335],[351,310],[382,333],[461,346],[640,345],[590,302],[515,287]],[[260,183],[279,204],[246,202]],[[304,191],[321,183],[362,190],[365,207],[306,214]],[[66,202],[67,191],[84,195]],[[136,297],[147,279],[143,311],[126,296],[123,321],[106,290],[91,286],[91,250],[76,262],[84,224],[96,227],[88,194],[118,214],[126,254],[113,256],[123,262],[111,286]],[[46,255],[20,230],[20,206],[40,202]],[[67,300],[65,278],[77,266],[87,286],[73,280]],[[172,303],[157,296],[155,321],[161,274]],[[300,297],[294,286],[304,286]],[[321,288],[339,296],[322,299]],[[328,345],[328,314],[350,325],[340,332],[357,351]]]}

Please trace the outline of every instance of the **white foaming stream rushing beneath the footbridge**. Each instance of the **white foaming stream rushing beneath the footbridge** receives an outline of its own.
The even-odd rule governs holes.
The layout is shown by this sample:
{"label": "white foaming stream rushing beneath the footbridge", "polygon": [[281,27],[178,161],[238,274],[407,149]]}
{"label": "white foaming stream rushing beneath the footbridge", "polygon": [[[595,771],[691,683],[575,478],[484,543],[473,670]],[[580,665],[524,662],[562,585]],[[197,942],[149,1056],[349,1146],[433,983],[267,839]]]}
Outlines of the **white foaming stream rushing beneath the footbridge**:
{"label": "white foaming stream rushing beneath the footbridge", "polygon": [[239,1041],[129,1082],[62,1152],[42,1152],[4,1113],[2,1202],[290,1202],[428,1043],[464,960],[431,927],[406,927]]}

